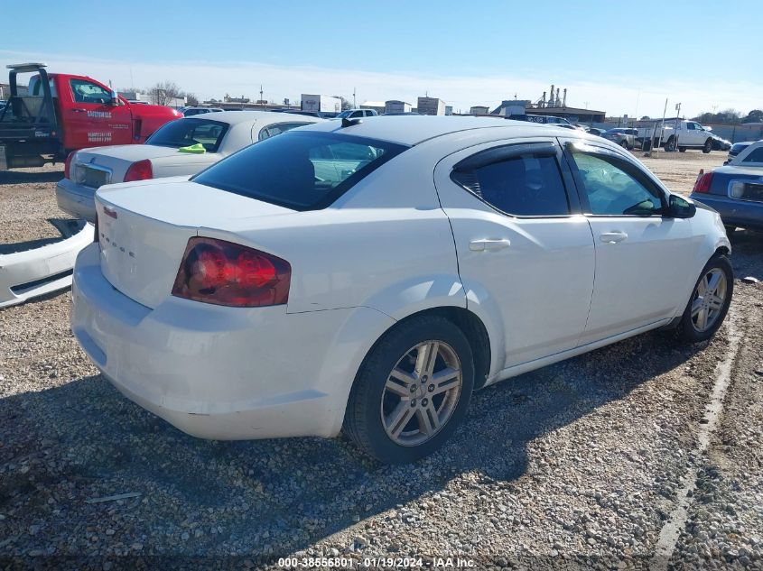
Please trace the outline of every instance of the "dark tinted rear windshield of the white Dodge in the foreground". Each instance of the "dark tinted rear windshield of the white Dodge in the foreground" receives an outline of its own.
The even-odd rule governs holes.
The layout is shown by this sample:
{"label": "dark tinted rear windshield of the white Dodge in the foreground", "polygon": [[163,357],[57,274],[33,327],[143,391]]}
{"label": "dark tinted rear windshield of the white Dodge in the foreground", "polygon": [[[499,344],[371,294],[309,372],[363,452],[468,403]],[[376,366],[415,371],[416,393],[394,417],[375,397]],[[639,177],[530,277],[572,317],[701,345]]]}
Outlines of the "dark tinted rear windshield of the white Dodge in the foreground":
{"label": "dark tinted rear windshield of the white Dodge in the foreground", "polygon": [[247,147],[192,180],[293,210],[318,210],[406,148],[345,134],[293,131]]}

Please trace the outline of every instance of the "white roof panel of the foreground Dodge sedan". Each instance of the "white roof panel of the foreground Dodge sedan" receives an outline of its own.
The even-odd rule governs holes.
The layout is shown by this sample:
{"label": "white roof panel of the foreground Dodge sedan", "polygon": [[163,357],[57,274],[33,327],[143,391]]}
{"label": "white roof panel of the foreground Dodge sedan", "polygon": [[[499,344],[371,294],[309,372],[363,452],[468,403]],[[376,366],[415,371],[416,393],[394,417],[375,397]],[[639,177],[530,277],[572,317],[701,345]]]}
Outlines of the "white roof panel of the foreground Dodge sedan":
{"label": "white roof panel of the foreground Dodge sedan", "polygon": [[[452,115],[379,115],[376,117],[366,117],[357,124],[347,127],[342,126],[338,121],[327,121],[303,127],[301,131],[351,134],[358,137],[388,141],[390,143],[414,145],[445,134],[494,127],[515,127],[517,130],[516,136],[523,136],[523,133],[526,133],[527,136],[544,133],[552,134],[552,131],[560,136],[568,136],[570,133],[569,129],[562,129],[550,124],[535,124],[526,121],[511,121],[492,117],[456,117]],[[540,132],[538,131],[539,129],[541,130]],[[563,132],[563,134],[559,132]]]}

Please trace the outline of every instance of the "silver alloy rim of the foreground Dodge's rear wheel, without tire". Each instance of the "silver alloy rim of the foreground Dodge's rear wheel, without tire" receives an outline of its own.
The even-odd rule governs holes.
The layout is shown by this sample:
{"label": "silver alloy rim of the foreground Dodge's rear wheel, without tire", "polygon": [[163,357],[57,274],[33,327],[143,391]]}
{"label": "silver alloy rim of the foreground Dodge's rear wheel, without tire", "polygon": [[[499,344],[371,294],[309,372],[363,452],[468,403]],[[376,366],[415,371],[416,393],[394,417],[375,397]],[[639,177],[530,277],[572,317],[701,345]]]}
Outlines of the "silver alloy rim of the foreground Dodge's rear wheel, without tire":
{"label": "silver alloy rim of the foreground Dodge's rear wheel, without tire", "polygon": [[461,362],[451,345],[423,341],[411,347],[386,379],[381,418],[395,444],[414,447],[451,419],[461,396]]}

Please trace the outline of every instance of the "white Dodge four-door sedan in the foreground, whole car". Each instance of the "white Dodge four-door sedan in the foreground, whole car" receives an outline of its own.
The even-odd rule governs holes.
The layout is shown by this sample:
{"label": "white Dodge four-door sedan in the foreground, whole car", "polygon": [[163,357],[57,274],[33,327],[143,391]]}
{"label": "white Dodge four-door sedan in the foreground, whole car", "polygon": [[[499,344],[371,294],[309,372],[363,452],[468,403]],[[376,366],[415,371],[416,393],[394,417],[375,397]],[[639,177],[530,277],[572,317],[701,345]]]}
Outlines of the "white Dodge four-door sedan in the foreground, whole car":
{"label": "white Dodge four-door sedan in the foreground, whole car", "polygon": [[433,452],[473,391],[657,327],[712,336],[720,217],[617,145],[473,117],[326,122],[191,180],[100,189],[71,327],[205,438]]}

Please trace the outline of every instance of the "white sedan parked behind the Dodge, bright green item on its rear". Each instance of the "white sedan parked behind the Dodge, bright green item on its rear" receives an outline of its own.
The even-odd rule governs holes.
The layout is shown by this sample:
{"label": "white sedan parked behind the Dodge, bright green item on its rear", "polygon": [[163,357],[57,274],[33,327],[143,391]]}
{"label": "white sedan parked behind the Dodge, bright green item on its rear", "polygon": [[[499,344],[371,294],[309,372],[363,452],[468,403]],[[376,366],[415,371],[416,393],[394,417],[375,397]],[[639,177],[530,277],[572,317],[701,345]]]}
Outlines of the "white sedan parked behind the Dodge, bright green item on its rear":
{"label": "white sedan parked behind the Dodge, bright green item on its rear", "polygon": [[70,153],[56,185],[61,210],[95,222],[93,196],[116,182],[190,176],[247,145],[322,119],[265,111],[220,111],[164,124],[145,144]]}

